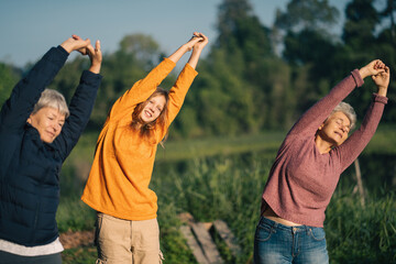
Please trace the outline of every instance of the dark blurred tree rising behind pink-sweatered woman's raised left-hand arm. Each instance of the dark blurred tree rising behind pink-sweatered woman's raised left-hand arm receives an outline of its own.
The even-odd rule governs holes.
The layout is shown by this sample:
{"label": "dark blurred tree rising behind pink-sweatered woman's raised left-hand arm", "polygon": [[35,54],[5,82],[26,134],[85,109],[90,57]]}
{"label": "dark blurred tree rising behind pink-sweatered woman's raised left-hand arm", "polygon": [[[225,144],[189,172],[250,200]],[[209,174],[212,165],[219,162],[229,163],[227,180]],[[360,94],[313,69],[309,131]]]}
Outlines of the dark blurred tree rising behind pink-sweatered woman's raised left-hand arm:
{"label": "dark blurred tree rising behind pink-sweatered woman's raised left-hand arm", "polygon": [[299,116],[324,96],[332,85],[340,52],[339,38],[331,29],[339,19],[337,8],[327,0],[290,0],[285,11],[277,10],[273,32],[283,41],[283,58],[292,67],[289,94]]}

